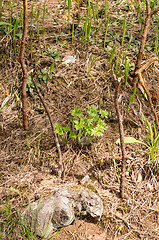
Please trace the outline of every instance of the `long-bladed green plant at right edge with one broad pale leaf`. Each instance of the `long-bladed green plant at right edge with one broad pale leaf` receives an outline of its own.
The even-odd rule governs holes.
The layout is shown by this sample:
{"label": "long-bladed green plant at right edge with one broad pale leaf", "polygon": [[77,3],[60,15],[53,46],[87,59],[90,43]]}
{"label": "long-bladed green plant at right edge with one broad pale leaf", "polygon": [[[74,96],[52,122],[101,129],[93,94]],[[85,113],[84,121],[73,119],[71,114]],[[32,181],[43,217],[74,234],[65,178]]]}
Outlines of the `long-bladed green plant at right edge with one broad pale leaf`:
{"label": "long-bladed green plant at right edge with one broad pale leaf", "polygon": [[[144,136],[145,142],[138,141],[133,137],[125,137],[124,142],[130,143],[130,144],[139,143],[139,144],[146,146],[148,151],[145,151],[145,152],[148,153],[148,155],[150,157],[149,163],[151,163],[155,159],[157,159],[157,157],[159,156],[159,135],[157,135],[157,129],[156,129],[154,121],[153,121],[154,132],[153,132],[150,122],[144,117],[143,114],[142,114],[142,121],[143,121],[143,126],[145,129],[145,136]],[[146,127],[148,129],[148,134],[146,131]],[[118,139],[116,141],[116,143],[120,143],[120,139]]]}

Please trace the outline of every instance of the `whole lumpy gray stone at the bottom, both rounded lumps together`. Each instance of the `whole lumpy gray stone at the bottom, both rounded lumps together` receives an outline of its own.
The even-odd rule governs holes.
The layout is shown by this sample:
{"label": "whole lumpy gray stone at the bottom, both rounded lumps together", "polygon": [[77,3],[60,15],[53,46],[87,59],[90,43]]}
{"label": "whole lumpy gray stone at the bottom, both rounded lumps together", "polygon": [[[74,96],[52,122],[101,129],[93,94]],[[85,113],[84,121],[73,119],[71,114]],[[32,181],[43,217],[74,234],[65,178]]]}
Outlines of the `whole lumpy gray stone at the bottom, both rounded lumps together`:
{"label": "whole lumpy gray stone at the bottom, both rounded lumps together", "polygon": [[90,215],[100,220],[103,203],[92,191],[84,188],[59,189],[52,196],[34,202],[22,213],[22,221],[36,235],[47,237],[53,230],[68,226],[77,215]]}

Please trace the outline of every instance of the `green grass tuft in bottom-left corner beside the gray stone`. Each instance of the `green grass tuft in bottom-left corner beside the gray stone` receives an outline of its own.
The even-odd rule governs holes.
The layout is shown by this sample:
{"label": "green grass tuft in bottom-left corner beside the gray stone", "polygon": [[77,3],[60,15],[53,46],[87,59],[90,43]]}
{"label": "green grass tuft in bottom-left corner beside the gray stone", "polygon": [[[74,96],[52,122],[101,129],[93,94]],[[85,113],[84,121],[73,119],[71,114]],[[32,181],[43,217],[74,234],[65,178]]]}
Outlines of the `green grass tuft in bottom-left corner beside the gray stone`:
{"label": "green grass tuft in bottom-left corner beside the gray stone", "polygon": [[[13,194],[19,195],[20,192],[17,189],[10,188],[10,192]],[[18,209],[13,208],[13,204],[11,204],[12,198],[6,197],[5,207],[1,210],[1,219],[0,219],[0,239],[24,239],[24,240],[43,240],[43,237],[35,236],[33,232],[33,222],[31,217],[31,201],[29,198],[29,219],[28,222],[25,223],[25,217],[22,219],[21,214]],[[15,198],[15,197],[14,197]],[[42,198],[42,197],[41,197]],[[41,198],[39,200],[36,212],[36,219],[38,218],[38,211],[41,203]],[[49,226],[48,226],[49,227]],[[47,229],[48,230],[48,229]],[[47,238],[47,240],[53,239],[57,236],[63,229],[53,234],[51,237]]]}

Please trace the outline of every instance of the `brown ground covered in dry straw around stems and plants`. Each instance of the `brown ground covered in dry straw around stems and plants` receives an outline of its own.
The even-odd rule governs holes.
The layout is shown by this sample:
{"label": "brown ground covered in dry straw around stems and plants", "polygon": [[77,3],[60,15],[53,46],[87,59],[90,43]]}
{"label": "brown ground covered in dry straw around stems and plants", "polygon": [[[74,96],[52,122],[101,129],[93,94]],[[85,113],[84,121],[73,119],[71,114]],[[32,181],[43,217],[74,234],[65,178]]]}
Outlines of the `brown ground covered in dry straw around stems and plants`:
{"label": "brown ground covered in dry straw around stems and plants", "polygon": [[[21,4],[15,2],[15,17],[21,9]],[[99,1],[99,9],[103,1]],[[6,7],[5,3],[4,8]],[[74,37],[70,24],[67,22],[67,8],[64,12],[63,3],[59,1],[46,1],[45,34],[41,33],[37,39],[37,25],[33,25],[33,60],[30,59],[30,38],[27,38],[26,59],[28,72],[34,68],[40,72],[41,68],[49,68],[55,62],[53,78],[44,84],[41,81],[40,91],[51,113],[52,121],[65,126],[69,122],[71,110],[79,106],[86,111],[86,106],[101,102],[101,108],[109,112],[106,120],[108,129],[103,137],[95,138],[87,147],[80,147],[75,142],[68,141],[61,144],[65,176],[62,182],[57,179],[58,153],[55,140],[47,114],[36,94],[28,94],[28,120],[29,131],[26,133],[22,125],[21,113],[21,66],[18,59],[19,45],[17,42],[16,54],[10,46],[9,37],[2,35],[0,41],[0,103],[12,92],[9,103],[0,112],[0,212],[4,218],[4,209],[10,203],[13,210],[20,211],[28,204],[28,196],[31,201],[50,195],[60,186],[81,184],[85,175],[89,175],[90,183],[87,187],[92,188],[102,198],[104,212],[100,222],[92,222],[88,219],[76,219],[73,225],[64,229],[54,239],[159,239],[159,169],[158,165],[148,165],[148,155],[145,152],[137,152],[142,146],[127,145],[127,177],[125,186],[125,199],[119,198],[118,170],[121,167],[120,147],[115,143],[119,137],[118,122],[114,107],[115,83],[113,71],[109,64],[110,53],[103,50],[104,27],[101,28],[96,38],[92,37],[88,48],[79,41],[79,35]],[[29,16],[31,5],[28,3]],[[81,16],[85,15],[86,3],[81,7]],[[34,2],[35,9],[41,9],[40,26],[42,26],[43,2]],[[76,9],[73,3],[73,9]],[[72,10],[73,11],[73,10]],[[128,8],[126,3],[116,5],[108,3],[108,11],[112,23],[109,32],[120,33],[122,36],[123,20],[125,12],[128,17],[136,16],[135,9]],[[72,14],[72,12],[71,12]],[[9,15],[8,15],[9,16]],[[56,19],[57,22],[53,19]],[[3,21],[7,20],[7,12],[4,13]],[[30,19],[30,18],[29,18]],[[139,23],[128,21],[128,30],[133,33],[134,46],[141,39]],[[81,21],[81,26],[83,22]],[[151,24],[150,32],[154,34],[155,27]],[[63,34],[61,34],[63,33]],[[4,34],[1,31],[1,34]],[[93,35],[92,35],[93,36]],[[121,41],[108,39],[118,44],[118,51],[122,52]],[[148,42],[151,46],[152,36],[149,34]],[[65,42],[64,42],[65,41]],[[110,41],[110,42],[111,42]],[[125,46],[128,40],[125,40]],[[109,44],[109,42],[108,42]],[[111,45],[110,45],[111,46]],[[60,58],[55,60],[44,53],[47,49],[61,51]],[[131,62],[135,62],[136,53],[133,48],[129,50]],[[118,53],[118,52],[117,52]],[[76,56],[76,62],[69,66],[63,64],[66,56]],[[88,76],[92,56],[95,61]],[[12,58],[12,56],[14,56]],[[143,63],[153,56],[152,49],[147,50]],[[115,64],[114,64],[115,65]],[[113,66],[114,66],[113,65]],[[115,66],[114,66],[115,68]],[[145,71],[145,79],[149,90],[152,92],[154,107],[159,115],[159,65],[154,64]],[[152,113],[148,102],[140,91],[137,91],[134,102],[127,111],[130,96],[133,89],[129,78],[126,89],[124,84],[120,90],[120,109],[123,115],[125,136],[133,136],[143,140],[144,128],[141,121],[141,112],[152,124]],[[110,151],[111,149],[111,151]],[[113,156],[112,156],[113,154]],[[114,165],[116,161],[116,167]],[[158,161],[158,160],[157,160]],[[157,162],[156,161],[156,162]],[[12,191],[15,189],[18,191]],[[3,228],[2,228],[3,229]],[[3,235],[5,236],[6,235]],[[9,238],[10,237],[10,238]],[[6,239],[21,239],[16,233]],[[5,238],[2,238],[5,239]]]}

